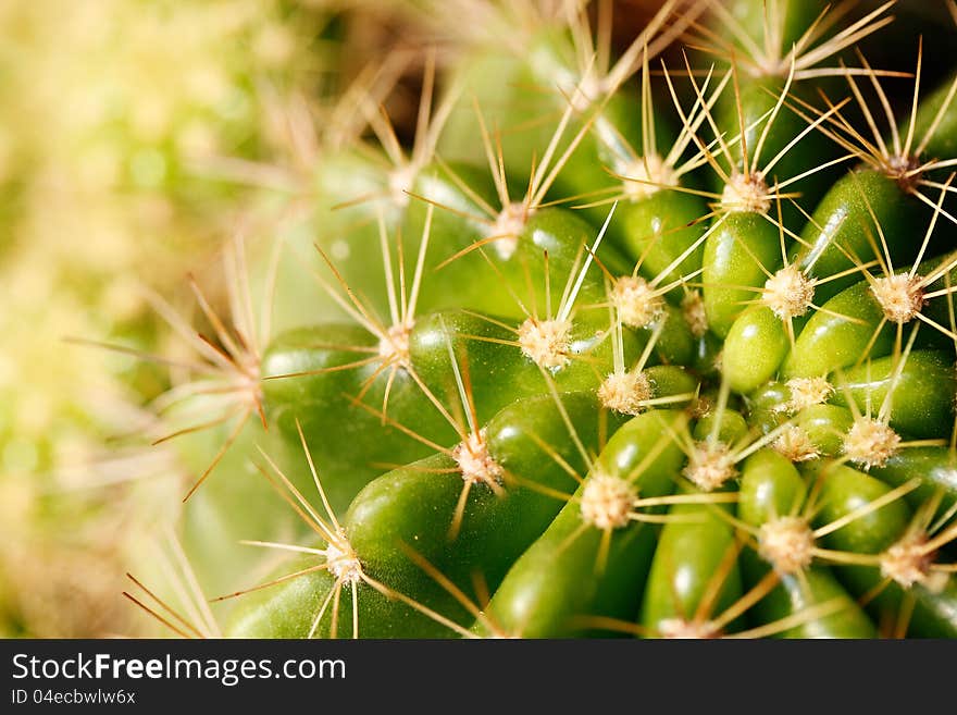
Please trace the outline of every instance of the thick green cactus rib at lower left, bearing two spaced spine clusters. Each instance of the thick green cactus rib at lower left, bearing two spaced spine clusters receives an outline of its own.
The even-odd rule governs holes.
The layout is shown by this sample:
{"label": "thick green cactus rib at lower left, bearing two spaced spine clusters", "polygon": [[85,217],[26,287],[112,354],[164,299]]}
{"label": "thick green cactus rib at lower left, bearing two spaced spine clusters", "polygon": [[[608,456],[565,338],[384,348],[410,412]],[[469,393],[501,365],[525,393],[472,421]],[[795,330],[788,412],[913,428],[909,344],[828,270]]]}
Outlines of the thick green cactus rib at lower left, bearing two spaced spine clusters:
{"label": "thick green cactus rib at lower left, bearing two spaced spine clusters", "polygon": [[[350,603],[368,637],[450,634],[449,621],[461,629],[468,612],[443,588],[444,580],[463,589],[480,572],[488,588],[497,585],[568,498],[575,484],[572,476],[584,471],[587,449],[597,451],[608,430],[620,423],[596,407],[587,393],[529,397],[505,408],[455,448],[370,482],[334,530],[336,553],[351,554],[348,563],[356,570],[349,574],[351,580],[340,575],[326,583],[325,592],[332,596],[344,584],[355,583]],[[324,556],[332,571],[328,547]],[[442,578],[423,570],[420,559],[438,569]],[[323,562],[313,569],[325,570]],[[310,608],[314,591],[294,585],[294,580],[243,604],[239,632],[272,632],[274,609]],[[396,594],[408,611],[401,622],[391,604]],[[314,607],[312,613],[311,626],[298,630],[298,637],[337,632],[337,614]],[[432,614],[442,614],[442,619],[430,618]],[[430,621],[424,631],[423,618]],[[307,619],[297,622],[303,626]]]}

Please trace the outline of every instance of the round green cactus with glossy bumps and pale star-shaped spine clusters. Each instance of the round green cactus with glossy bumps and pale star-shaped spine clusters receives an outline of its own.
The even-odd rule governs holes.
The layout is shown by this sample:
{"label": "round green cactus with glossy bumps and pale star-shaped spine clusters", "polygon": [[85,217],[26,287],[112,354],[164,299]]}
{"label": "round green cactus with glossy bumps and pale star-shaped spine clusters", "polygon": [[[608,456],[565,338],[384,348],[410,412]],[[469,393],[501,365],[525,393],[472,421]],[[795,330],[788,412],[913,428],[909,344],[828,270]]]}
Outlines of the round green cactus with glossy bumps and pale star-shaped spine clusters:
{"label": "round green cactus with glossy bumps and pale star-shaped spine clusters", "polygon": [[455,38],[408,131],[346,102],[368,136],[270,198],[298,223],[195,325],[162,304],[191,477],[127,599],[184,637],[957,636],[957,67],[881,54],[890,2],[406,4]]}

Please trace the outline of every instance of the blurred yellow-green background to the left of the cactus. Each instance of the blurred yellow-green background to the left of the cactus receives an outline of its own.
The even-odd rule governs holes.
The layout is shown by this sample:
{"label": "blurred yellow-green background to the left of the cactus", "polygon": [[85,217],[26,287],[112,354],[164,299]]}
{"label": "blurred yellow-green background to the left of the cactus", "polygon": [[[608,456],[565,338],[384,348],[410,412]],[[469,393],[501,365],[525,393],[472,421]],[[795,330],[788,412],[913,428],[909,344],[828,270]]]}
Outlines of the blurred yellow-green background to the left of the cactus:
{"label": "blurred yellow-green background to the left of the cactus", "polygon": [[84,342],[175,353],[150,296],[190,305],[237,226],[275,230],[361,132],[344,88],[401,115],[402,14],[0,0],[0,637],[157,632],[121,592],[191,479],[150,446],[169,370]]}

